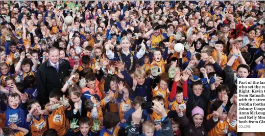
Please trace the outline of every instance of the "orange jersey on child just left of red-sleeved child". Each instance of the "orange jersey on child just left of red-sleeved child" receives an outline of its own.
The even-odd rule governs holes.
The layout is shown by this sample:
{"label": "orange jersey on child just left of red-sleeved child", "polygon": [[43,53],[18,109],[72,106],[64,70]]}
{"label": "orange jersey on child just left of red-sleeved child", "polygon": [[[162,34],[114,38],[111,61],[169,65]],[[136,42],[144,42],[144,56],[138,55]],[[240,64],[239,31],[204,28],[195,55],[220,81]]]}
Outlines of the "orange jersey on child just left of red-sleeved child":
{"label": "orange jersey on child just left of red-sleeved child", "polygon": [[168,108],[168,97],[170,96],[170,90],[168,90],[168,87],[165,90],[162,90],[159,83],[157,86],[153,89],[152,88],[152,94],[153,97],[155,96],[161,96],[164,98],[165,108]]}

